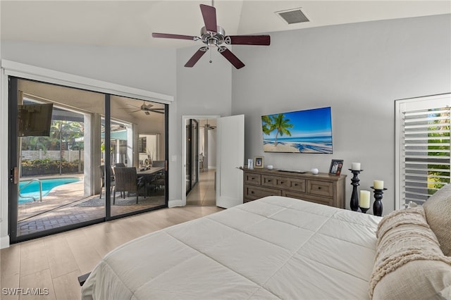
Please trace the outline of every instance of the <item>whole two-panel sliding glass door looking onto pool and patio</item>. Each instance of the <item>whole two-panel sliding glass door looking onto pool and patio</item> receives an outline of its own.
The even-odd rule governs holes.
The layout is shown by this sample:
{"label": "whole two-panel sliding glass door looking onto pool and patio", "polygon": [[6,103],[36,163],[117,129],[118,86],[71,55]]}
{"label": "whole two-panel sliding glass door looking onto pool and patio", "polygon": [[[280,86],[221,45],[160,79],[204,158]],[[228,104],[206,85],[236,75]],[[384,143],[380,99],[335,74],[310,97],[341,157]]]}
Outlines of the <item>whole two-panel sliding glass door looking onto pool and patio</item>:
{"label": "whole two-panel sliding glass door looking onto pool and patio", "polygon": [[[166,105],[9,80],[11,242],[167,206]],[[159,137],[147,164],[143,133]],[[135,171],[136,188],[121,187],[117,168]]]}

